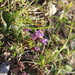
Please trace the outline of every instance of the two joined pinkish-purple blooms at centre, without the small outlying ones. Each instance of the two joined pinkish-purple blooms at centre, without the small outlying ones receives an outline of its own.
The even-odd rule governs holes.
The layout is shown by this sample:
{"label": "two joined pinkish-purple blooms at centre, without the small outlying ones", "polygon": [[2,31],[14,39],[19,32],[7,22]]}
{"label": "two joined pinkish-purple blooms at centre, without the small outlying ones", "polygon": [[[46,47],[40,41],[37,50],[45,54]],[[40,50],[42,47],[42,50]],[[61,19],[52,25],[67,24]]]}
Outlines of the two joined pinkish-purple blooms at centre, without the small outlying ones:
{"label": "two joined pinkish-purple blooms at centre, without the small outlying ones", "polygon": [[38,40],[38,41],[41,42],[42,44],[47,45],[46,42],[48,42],[48,39],[44,39],[44,38],[43,38],[44,34],[43,34],[40,30],[35,31],[35,33],[32,34],[31,36],[32,36],[32,40],[33,40],[33,41],[34,41],[34,40]]}

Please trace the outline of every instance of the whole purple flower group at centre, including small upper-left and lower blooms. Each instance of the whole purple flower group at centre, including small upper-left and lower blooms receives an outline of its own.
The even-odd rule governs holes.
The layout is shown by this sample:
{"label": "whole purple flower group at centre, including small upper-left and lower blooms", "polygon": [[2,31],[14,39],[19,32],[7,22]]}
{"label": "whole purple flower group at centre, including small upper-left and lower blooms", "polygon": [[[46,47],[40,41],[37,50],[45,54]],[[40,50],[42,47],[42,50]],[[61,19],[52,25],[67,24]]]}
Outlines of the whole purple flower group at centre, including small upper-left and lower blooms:
{"label": "whole purple flower group at centre, including small upper-left and lower blooms", "polygon": [[[26,32],[29,30],[30,29],[28,28],[24,29],[24,31]],[[37,40],[41,42],[42,44],[47,45],[48,39],[44,39],[43,36],[44,34],[40,30],[35,31],[34,34],[31,35],[33,41]],[[31,50],[39,51],[40,48],[36,46],[36,47],[32,47]]]}

